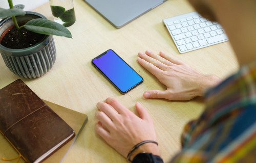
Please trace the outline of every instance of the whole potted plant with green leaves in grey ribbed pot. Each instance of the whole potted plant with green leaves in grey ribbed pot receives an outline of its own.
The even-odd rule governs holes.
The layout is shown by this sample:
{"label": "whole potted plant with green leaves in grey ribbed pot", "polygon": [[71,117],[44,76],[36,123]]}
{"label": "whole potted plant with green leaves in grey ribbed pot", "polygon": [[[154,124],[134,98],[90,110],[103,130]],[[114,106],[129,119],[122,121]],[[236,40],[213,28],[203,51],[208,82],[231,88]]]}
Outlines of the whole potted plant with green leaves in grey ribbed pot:
{"label": "whole potted plant with green leaves in grey ribbed pot", "polygon": [[16,75],[36,78],[47,73],[56,60],[52,35],[72,38],[65,26],[36,12],[23,11],[24,5],[0,8],[0,52],[7,67]]}

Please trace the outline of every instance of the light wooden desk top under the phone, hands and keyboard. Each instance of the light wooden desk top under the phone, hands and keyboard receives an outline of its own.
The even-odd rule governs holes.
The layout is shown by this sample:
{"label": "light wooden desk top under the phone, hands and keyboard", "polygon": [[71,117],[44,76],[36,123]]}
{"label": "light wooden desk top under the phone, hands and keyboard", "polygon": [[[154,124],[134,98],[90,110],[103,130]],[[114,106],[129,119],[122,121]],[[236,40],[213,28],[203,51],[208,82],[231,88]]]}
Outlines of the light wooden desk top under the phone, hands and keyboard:
{"label": "light wooden desk top under the phone, hands and keyboard", "polygon": [[[74,0],[74,7],[76,22],[68,28],[73,39],[54,36],[57,60],[53,68],[40,78],[23,79],[40,98],[89,117],[86,128],[64,162],[126,162],[94,131],[96,103],[107,97],[117,98],[132,111],[135,111],[136,102],[147,108],[155,124],[162,158],[169,160],[180,150],[184,124],[203,111],[203,100],[144,99],[146,90],[164,90],[165,86],[137,63],[138,52],[162,50],[204,74],[213,73],[225,78],[238,68],[229,42],[181,55],[162,19],[194,11],[185,0],[167,1],[119,30],[84,1]],[[34,11],[52,19],[48,3]],[[94,57],[108,49],[115,50],[144,78],[140,86],[125,95],[120,94],[91,64]],[[0,88],[19,78],[6,67],[2,58],[0,69]]]}

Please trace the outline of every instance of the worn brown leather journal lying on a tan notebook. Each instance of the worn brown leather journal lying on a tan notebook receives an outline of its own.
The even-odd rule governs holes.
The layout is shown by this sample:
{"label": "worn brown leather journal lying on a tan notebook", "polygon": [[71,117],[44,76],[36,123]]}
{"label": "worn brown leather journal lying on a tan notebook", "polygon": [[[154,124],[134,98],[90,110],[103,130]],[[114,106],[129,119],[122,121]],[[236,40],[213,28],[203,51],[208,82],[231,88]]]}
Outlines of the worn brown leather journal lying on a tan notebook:
{"label": "worn brown leather journal lying on a tan notebook", "polygon": [[74,130],[21,79],[0,90],[0,131],[27,162],[41,162]]}

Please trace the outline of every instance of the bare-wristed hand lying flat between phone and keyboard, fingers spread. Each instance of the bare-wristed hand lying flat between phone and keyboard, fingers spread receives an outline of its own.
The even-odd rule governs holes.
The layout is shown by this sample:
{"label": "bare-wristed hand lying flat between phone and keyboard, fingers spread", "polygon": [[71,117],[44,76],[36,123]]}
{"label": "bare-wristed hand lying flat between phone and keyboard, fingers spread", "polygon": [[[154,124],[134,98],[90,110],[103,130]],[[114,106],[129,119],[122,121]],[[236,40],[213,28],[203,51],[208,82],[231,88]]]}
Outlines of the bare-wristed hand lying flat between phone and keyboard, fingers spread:
{"label": "bare-wristed hand lying flat between phone and keyboard, fingers spread", "polygon": [[164,91],[146,91],[144,93],[145,98],[190,100],[196,96],[202,96],[206,88],[215,86],[220,82],[220,78],[217,76],[203,75],[164,52],[160,52],[160,56],[149,50],[145,53],[139,52],[137,61],[167,88]]}

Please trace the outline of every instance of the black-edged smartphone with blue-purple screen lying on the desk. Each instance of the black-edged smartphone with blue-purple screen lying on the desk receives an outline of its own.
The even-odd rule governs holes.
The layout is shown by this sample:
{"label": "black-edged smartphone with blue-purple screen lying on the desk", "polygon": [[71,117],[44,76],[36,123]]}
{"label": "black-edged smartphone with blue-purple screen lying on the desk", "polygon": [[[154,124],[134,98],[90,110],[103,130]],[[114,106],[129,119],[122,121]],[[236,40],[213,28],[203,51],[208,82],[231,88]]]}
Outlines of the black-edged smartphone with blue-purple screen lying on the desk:
{"label": "black-edged smartphone with blue-purple screen lying on the desk", "polygon": [[113,50],[107,50],[92,60],[92,64],[122,93],[143,82],[143,78]]}

